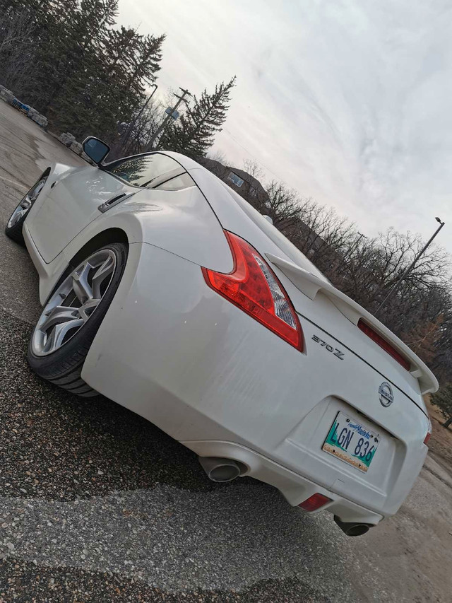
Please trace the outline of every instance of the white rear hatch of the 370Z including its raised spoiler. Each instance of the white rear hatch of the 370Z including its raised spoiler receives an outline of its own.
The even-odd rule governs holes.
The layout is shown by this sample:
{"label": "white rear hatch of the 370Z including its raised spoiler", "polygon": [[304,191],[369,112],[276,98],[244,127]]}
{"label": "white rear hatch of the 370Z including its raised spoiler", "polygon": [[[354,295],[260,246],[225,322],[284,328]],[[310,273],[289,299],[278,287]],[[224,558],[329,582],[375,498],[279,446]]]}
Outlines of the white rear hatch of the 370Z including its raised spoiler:
{"label": "white rear hatch of the 370Z including its raised spoiler", "polygon": [[[266,257],[299,315],[328,334],[334,340],[335,348],[345,347],[361,358],[379,373],[381,381],[391,382],[427,414],[422,394],[435,392],[439,386],[424,362],[367,310],[335,288],[295,245],[239,194],[203,168],[189,172],[206,194],[222,228],[241,236]],[[231,203],[231,197],[234,203]],[[244,220],[244,213],[249,220]],[[409,370],[357,327],[360,319],[409,361]]]}

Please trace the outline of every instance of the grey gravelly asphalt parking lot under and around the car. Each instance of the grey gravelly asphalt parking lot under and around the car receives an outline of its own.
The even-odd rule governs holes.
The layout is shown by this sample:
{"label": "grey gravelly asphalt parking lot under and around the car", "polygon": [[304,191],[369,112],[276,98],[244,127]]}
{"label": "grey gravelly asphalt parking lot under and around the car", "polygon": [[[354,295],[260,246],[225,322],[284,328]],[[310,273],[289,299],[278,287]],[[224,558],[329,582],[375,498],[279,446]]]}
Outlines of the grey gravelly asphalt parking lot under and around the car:
{"label": "grey gravelly asphalt parking lot under and around the car", "polygon": [[[0,101],[2,225],[52,160],[81,163]],[[3,231],[0,258],[0,602],[451,600],[450,457],[357,539],[265,484],[211,484],[152,424],[31,373],[37,275]]]}

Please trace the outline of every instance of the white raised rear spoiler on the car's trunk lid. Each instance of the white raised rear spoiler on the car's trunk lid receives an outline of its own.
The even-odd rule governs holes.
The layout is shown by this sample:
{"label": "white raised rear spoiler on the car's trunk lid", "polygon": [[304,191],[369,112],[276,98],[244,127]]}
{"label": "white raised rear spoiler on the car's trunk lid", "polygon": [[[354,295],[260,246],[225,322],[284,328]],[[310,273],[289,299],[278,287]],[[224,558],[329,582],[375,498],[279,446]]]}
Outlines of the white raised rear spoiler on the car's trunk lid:
{"label": "white raised rear spoiler on the car's trunk lid", "polygon": [[377,333],[389,341],[410,362],[410,374],[418,380],[422,394],[429,394],[438,390],[438,381],[427,365],[398,336],[394,335],[384,324],[372,316],[370,312],[364,310],[359,303],[356,303],[345,295],[345,293],[333,287],[328,281],[319,279],[319,276],[311,274],[287,259],[277,257],[271,253],[267,253],[266,257],[272,264],[278,266],[285,276],[287,276],[287,279],[290,279],[297,289],[304,293],[304,295],[307,295],[309,299],[314,300],[317,293],[321,291],[350,322],[358,324],[359,319],[363,318],[370,324],[372,329],[375,329]]}

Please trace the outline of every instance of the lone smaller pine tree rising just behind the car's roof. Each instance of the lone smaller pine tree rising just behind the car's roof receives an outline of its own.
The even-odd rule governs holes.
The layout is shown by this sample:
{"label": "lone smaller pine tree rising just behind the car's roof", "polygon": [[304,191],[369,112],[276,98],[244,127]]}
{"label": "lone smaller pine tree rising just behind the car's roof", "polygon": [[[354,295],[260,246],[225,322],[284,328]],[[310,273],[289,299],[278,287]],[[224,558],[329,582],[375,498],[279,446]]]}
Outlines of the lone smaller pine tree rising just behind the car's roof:
{"label": "lone smaller pine tree rising just behind the car's roof", "polygon": [[235,76],[227,83],[215,86],[215,92],[204,90],[201,98],[194,97],[193,107],[188,107],[179,122],[175,122],[159,141],[159,148],[184,153],[189,157],[204,157],[213,145],[215,134],[222,130],[227,117],[230,92],[235,86]]}

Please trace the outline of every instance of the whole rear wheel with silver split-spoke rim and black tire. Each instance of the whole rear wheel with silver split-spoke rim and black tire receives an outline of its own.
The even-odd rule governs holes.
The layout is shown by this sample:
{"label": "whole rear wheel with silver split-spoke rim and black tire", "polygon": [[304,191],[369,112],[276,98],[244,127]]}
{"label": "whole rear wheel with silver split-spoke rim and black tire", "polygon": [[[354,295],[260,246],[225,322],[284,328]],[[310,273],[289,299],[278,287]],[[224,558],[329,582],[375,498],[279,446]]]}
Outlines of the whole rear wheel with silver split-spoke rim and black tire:
{"label": "whole rear wheel with silver split-spoke rim and black tire", "polygon": [[81,377],[83,363],[121,281],[124,243],[110,243],[71,267],[50,295],[28,347],[35,373],[83,397],[97,395]]}

